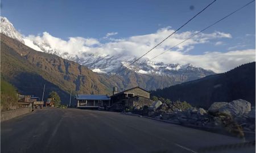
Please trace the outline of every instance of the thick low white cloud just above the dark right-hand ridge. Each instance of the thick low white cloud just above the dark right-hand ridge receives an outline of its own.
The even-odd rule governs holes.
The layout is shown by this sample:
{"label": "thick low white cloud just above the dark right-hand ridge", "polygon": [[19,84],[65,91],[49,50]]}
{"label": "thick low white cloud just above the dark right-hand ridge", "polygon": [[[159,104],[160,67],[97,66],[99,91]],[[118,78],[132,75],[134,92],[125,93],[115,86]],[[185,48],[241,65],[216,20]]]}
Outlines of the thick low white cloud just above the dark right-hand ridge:
{"label": "thick low white cloud just above the dark right-hand ridge", "polygon": [[192,63],[192,65],[222,73],[243,63],[255,61],[255,50],[234,50],[226,53],[205,52],[201,55],[184,54],[181,52],[167,52],[159,56],[158,60],[171,63]]}

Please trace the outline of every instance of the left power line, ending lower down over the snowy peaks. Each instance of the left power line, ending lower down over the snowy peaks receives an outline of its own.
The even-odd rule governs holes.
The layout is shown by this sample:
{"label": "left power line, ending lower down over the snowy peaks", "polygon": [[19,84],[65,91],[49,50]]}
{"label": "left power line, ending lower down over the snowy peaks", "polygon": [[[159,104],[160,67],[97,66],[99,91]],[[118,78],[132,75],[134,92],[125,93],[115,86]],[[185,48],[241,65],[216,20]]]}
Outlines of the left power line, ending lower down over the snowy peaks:
{"label": "left power line, ending lower down over the snowy peaks", "polygon": [[[155,45],[153,48],[151,48],[150,50],[148,50],[146,53],[144,53],[141,57],[135,59],[135,61],[131,62],[128,66],[125,67],[125,69],[131,65],[133,65],[133,63],[137,62],[139,59],[141,59],[143,56],[146,56],[147,53],[151,52],[153,49],[155,49],[157,46],[159,46],[160,44],[162,44],[162,42],[166,41],[169,37],[171,37],[172,35],[174,35],[174,33],[176,33],[177,31],[179,31],[179,29],[181,29],[182,27],[184,27],[186,24],[188,24],[189,22],[191,22],[191,20],[193,20],[194,18],[196,18],[197,15],[201,14],[201,12],[203,12],[205,9],[207,9],[210,5],[212,5],[214,2],[216,2],[217,0],[214,0],[213,2],[209,3],[208,6],[206,6],[203,10],[201,10],[200,12],[198,12],[196,15],[194,15],[191,19],[189,19],[186,23],[184,23],[183,25],[181,25],[181,27],[177,28],[174,32],[171,33],[171,35],[169,35],[168,37],[166,37],[164,40],[160,41],[157,45]],[[121,67],[122,68],[122,67]],[[110,78],[106,79],[109,80],[111,78],[113,78],[115,75],[121,73],[121,71],[125,70],[125,69],[121,69],[119,70],[117,73],[115,73],[114,75],[110,76]],[[105,81],[106,81],[105,80]]]}

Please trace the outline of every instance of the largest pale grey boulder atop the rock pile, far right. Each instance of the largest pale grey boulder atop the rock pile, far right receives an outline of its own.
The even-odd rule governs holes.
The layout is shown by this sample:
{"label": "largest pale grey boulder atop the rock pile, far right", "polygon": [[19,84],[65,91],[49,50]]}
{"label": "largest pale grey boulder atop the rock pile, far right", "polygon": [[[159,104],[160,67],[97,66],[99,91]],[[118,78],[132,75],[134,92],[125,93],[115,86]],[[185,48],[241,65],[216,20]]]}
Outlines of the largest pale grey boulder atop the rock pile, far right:
{"label": "largest pale grey boulder atop the rock pile, far right", "polygon": [[250,111],[251,103],[246,100],[238,99],[224,105],[224,107],[218,110],[218,113],[228,116],[241,116],[242,114],[247,114]]}

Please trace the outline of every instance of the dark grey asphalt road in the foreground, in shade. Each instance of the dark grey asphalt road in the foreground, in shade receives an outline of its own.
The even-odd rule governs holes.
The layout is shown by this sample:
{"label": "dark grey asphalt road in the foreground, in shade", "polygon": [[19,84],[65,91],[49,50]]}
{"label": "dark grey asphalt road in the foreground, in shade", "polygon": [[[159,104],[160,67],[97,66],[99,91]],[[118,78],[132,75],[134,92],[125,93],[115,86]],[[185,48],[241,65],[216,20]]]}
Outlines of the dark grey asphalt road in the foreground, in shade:
{"label": "dark grey asphalt road in the foreground, in shade", "polygon": [[255,146],[221,147],[241,142],[148,118],[81,109],[38,109],[1,123],[1,152],[255,152]]}

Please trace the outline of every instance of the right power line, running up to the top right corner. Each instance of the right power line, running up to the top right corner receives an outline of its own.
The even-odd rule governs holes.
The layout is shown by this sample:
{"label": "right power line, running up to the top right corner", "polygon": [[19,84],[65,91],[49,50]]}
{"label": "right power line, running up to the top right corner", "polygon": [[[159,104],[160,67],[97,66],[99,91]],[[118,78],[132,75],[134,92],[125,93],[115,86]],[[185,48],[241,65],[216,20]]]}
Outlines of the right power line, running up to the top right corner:
{"label": "right power line, running up to the top right corner", "polygon": [[[254,1],[255,1],[255,0],[254,0]],[[217,24],[218,22],[221,22],[222,20],[224,20],[224,19],[228,18],[230,15],[234,14],[235,12],[240,11],[242,8],[246,7],[247,5],[250,5],[250,3],[254,2],[254,1],[251,1],[251,2],[247,3],[246,5],[244,5],[244,6],[240,7],[240,8],[238,8],[237,10],[235,10],[235,11],[231,12],[230,14],[228,14],[228,15],[224,16],[224,18],[222,18],[222,19],[218,20],[217,22],[214,22],[213,24],[210,24],[208,27],[206,27],[206,28],[202,29],[201,31],[199,31],[199,32],[195,33],[194,35],[192,35],[192,36],[188,37],[187,39],[185,39],[185,40],[181,41],[179,44],[176,44],[175,46],[172,46],[171,48],[169,48],[169,49],[165,50],[163,53],[160,53],[158,56],[155,56],[155,57],[151,58],[149,61],[151,61],[152,59],[155,59],[156,57],[159,57],[160,55],[162,55],[162,54],[166,53],[168,50],[171,50],[172,48],[175,48],[177,45],[180,45],[180,44],[182,44],[183,42],[185,42],[185,41],[187,41],[187,40],[191,39],[192,37],[194,37],[194,36],[198,35],[199,33],[201,33],[201,32],[203,32],[203,31],[205,31],[206,29],[208,29],[208,28],[212,27],[213,25]]]}

